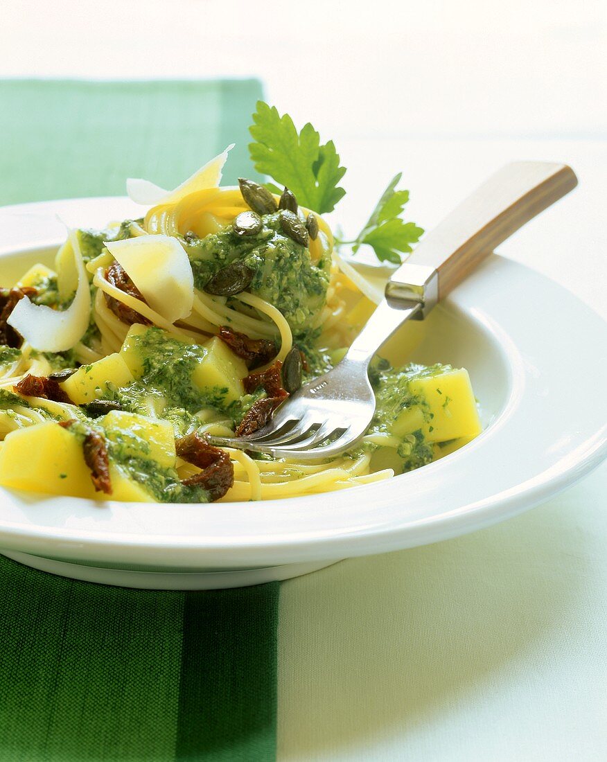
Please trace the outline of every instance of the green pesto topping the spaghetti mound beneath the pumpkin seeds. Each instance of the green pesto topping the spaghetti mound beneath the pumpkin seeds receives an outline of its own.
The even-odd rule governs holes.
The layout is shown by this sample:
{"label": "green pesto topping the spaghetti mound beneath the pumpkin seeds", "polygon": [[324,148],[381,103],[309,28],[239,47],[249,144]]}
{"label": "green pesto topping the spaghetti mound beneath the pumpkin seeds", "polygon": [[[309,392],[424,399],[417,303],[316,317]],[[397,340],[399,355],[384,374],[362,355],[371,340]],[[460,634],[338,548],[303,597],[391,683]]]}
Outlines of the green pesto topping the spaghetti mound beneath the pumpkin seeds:
{"label": "green pesto topping the spaghetti mound beneath the pumpkin seeds", "polygon": [[315,325],[329,286],[328,258],[312,263],[310,251],[281,229],[278,213],[262,216],[258,235],[240,238],[229,226],[198,242],[183,241],[194,271],[194,284],[204,290],[207,281],[226,264],[242,261],[253,271],[249,290],[277,307],[294,335],[304,336]]}

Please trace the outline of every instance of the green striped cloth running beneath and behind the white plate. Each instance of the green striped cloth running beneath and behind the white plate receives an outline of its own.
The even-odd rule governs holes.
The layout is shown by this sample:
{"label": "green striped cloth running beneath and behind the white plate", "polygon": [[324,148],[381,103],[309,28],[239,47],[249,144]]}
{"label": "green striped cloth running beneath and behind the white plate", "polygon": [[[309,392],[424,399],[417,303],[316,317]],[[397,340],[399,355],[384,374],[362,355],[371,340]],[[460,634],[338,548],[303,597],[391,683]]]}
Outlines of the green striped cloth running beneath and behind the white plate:
{"label": "green striped cloth running beneath and behind the white plate", "polygon": [[[0,203],[174,187],[246,127],[261,85],[0,81]],[[0,280],[2,273],[0,272]],[[218,507],[220,510],[220,507]],[[278,583],[138,591],[0,556],[0,760],[272,760]]]}

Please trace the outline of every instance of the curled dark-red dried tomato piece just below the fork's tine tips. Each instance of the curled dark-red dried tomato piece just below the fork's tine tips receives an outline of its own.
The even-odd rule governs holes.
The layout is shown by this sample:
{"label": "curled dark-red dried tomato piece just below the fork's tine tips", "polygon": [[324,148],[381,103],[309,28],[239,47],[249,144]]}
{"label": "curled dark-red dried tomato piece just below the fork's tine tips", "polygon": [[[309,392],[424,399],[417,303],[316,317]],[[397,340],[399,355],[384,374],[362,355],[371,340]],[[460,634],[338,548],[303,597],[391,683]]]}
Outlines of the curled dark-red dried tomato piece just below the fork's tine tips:
{"label": "curled dark-red dried tomato piece just below the fork's tine tips", "polygon": [[202,469],[189,479],[182,479],[185,487],[201,486],[209,493],[211,501],[223,498],[234,483],[234,466],[230,455],[219,447],[213,447],[197,431],[176,440],[175,450],[180,458]]}

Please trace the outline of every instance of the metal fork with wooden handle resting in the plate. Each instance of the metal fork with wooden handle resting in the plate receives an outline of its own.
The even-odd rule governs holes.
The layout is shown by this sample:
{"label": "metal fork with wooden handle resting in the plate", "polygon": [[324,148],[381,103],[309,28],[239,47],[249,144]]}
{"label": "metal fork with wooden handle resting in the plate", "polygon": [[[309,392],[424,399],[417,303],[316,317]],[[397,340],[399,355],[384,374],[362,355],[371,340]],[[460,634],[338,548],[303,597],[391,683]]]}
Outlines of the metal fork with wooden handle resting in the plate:
{"label": "metal fork with wooden handle resting in the plate", "polygon": [[497,245],[576,187],[567,165],[513,162],[493,174],[422,239],[387,282],[377,306],[343,360],[304,384],[247,437],[209,437],[277,458],[329,458],[353,447],[374,416],[368,378],[377,350],[409,319],[422,320]]}

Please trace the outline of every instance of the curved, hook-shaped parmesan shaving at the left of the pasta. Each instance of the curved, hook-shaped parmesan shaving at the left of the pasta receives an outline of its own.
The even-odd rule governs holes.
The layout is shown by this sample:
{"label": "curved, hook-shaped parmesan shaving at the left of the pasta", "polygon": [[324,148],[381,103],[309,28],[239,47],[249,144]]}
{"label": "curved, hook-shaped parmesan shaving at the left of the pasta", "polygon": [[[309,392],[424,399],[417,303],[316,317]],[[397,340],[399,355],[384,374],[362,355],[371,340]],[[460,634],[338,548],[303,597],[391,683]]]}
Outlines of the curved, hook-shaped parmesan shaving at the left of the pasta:
{"label": "curved, hook-shaped parmesan shaving at the left of the pasta", "polygon": [[91,315],[91,292],[75,232],[70,233],[78,286],[67,309],[51,309],[20,299],[8,317],[8,325],[41,352],[65,352],[85,334]]}

